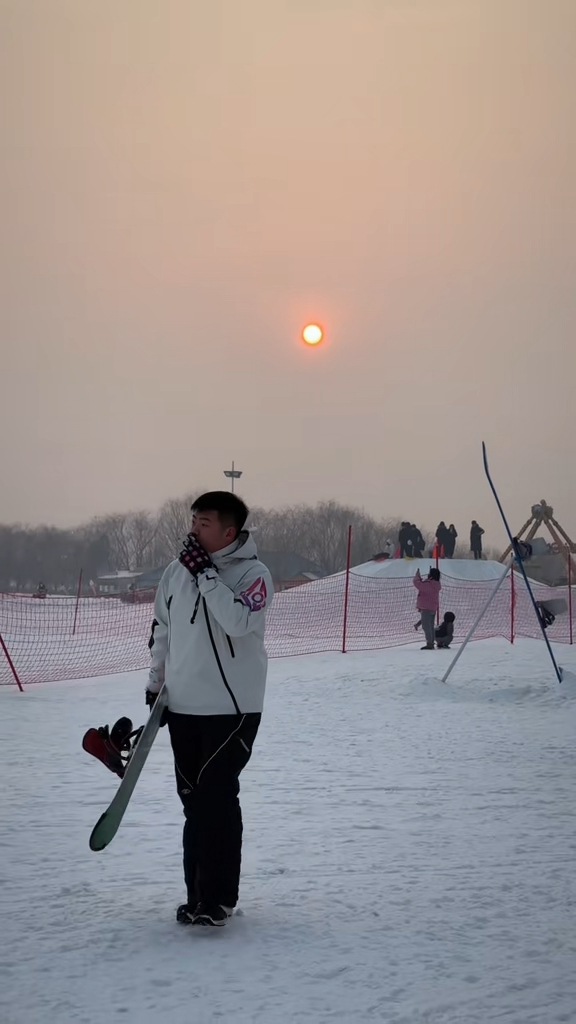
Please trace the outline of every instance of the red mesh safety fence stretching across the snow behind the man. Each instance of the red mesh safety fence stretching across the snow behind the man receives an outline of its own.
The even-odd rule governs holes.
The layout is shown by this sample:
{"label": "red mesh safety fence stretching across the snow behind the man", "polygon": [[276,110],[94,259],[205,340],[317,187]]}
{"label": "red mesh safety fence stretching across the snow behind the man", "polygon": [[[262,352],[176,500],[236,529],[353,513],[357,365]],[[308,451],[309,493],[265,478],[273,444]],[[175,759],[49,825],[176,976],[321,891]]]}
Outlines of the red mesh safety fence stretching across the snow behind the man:
{"label": "red mesh safety fence stretching across the snow behind the man", "polygon": [[[495,582],[452,580],[443,573],[441,615],[456,615],[454,640],[462,640],[495,587]],[[515,580],[515,635],[540,637],[538,623],[522,579]],[[537,600],[564,598],[568,590],[534,585]],[[271,657],[342,649],[345,574],[294,587],[275,596],[268,612],[266,647]],[[395,647],[420,641],[414,624],[416,592],[411,580],[349,575],[346,649]],[[476,634],[478,639],[511,635],[511,585],[506,580]],[[0,594],[0,634],[24,685],[82,679],[146,669],[152,603],[114,598],[46,597]],[[548,629],[553,642],[568,643],[574,633],[568,611]],[[13,684],[0,648],[0,684]]]}

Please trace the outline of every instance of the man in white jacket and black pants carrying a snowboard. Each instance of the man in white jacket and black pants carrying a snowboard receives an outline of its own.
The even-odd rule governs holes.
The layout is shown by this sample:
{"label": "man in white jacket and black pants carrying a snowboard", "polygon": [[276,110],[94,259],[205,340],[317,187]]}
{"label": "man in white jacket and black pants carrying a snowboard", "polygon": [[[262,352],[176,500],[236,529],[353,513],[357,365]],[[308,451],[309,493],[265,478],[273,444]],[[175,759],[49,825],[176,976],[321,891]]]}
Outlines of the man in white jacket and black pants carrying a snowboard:
{"label": "man in white jacket and black pants carrying a snowboard", "polygon": [[264,697],[265,609],[272,578],[244,529],[248,509],[214,490],[192,506],[192,530],[164,572],[154,606],[147,701],[162,684],[183,805],[188,901],[182,924],[224,925],[238,901],[242,850],[239,775]]}

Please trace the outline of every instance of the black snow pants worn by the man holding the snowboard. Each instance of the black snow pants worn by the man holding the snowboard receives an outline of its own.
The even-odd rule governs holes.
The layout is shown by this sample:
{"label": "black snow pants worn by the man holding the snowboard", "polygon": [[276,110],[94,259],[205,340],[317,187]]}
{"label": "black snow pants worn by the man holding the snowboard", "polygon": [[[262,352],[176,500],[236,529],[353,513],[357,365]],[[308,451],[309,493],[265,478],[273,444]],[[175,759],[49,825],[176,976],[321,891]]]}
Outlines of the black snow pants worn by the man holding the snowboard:
{"label": "black snow pants worn by the man holding the snowboard", "polygon": [[176,786],[186,815],[188,902],[238,902],[242,858],[240,772],[248,764],[259,714],[168,713]]}

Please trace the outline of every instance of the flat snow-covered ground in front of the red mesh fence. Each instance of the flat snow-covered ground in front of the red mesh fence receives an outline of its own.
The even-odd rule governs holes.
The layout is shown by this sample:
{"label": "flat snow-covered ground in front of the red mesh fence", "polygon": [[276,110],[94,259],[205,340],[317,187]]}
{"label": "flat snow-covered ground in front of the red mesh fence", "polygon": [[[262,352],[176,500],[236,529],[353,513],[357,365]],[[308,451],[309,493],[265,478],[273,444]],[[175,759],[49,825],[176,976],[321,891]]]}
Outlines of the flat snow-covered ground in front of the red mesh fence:
{"label": "flat snow-covered ground in front of the red mesh fence", "polygon": [[[576,1020],[576,689],[544,646],[271,664],[243,775],[241,906],[174,923],[162,730],[104,853],[115,779],[80,746],[143,720],[143,674],[0,690],[2,1024]],[[559,650],[576,670],[576,651]]]}

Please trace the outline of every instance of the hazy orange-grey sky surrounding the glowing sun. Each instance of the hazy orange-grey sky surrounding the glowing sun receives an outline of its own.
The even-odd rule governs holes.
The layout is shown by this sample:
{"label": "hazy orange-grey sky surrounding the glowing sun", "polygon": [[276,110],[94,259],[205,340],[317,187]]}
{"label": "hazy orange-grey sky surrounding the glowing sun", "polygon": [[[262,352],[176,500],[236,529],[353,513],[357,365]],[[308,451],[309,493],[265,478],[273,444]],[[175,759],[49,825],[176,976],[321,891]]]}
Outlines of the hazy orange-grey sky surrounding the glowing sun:
{"label": "hazy orange-grey sky surrounding the glowing sun", "polygon": [[575,86],[574,0],[0,0],[0,521],[498,545],[484,439],[576,534]]}

